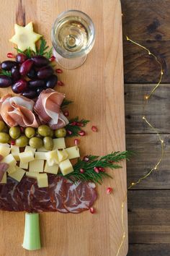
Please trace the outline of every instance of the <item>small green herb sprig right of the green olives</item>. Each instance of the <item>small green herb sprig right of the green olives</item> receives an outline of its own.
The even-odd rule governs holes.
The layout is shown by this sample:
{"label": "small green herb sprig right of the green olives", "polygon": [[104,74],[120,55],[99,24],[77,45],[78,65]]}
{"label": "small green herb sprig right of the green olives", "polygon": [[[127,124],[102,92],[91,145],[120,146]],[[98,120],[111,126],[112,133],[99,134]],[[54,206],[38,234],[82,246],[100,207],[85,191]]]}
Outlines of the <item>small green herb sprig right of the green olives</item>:
{"label": "small green herb sprig right of the green olives", "polygon": [[81,132],[81,128],[85,127],[86,124],[89,123],[89,120],[81,119],[79,120],[79,116],[76,118],[69,120],[69,124],[66,125],[66,130],[68,132],[68,137],[79,136],[79,132]]}

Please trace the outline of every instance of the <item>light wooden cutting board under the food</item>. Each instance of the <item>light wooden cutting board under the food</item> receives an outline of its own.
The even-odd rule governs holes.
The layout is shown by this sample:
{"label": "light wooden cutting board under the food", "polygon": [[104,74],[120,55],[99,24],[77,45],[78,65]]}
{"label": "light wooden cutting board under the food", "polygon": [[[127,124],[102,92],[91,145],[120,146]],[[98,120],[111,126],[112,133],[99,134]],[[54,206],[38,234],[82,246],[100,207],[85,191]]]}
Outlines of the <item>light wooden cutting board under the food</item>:
{"label": "light wooden cutting board under the food", "polygon": [[[81,138],[81,155],[104,155],[125,150],[125,116],[122,65],[122,15],[119,0],[6,0],[1,1],[0,57],[15,52],[9,38],[14,23],[25,25],[32,21],[35,32],[50,43],[50,30],[55,18],[68,9],[89,14],[96,27],[96,42],[83,66],[64,70],[60,79],[66,84],[57,88],[74,101],[70,116],[91,120],[88,136]],[[0,95],[10,89],[0,90]],[[99,132],[91,132],[97,125]],[[67,141],[73,145],[73,139]],[[24,213],[0,213],[0,255],[50,256],[115,256],[122,239],[121,202],[126,193],[126,168],[110,171],[114,179],[97,186],[99,198],[94,207],[80,214],[40,214],[42,249],[28,252],[22,248]],[[107,187],[114,193],[107,195]],[[128,251],[127,208],[125,205],[125,242],[120,251]]]}

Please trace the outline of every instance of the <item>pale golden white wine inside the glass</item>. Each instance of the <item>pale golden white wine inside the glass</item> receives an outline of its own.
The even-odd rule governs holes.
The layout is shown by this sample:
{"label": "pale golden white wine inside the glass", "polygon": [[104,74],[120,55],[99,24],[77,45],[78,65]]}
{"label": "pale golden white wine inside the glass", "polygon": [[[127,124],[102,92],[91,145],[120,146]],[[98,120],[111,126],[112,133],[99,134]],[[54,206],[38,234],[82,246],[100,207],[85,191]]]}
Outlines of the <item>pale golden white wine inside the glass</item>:
{"label": "pale golden white wine inside the glass", "polygon": [[65,17],[55,28],[55,41],[65,51],[77,53],[89,42],[90,30],[80,17]]}

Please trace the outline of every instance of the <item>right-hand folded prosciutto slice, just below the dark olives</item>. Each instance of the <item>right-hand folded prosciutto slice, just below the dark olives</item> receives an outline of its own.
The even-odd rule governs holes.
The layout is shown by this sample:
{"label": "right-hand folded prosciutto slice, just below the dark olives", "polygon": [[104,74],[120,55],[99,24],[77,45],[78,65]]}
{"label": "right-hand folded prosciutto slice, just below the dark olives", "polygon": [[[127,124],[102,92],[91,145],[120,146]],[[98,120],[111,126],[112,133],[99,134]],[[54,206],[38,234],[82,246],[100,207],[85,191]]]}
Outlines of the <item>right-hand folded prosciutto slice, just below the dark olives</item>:
{"label": "right-hand folded prosciutto slice, just below the dark olives", "polygon": [[68,124],[68,119],[61,111],[65,95],[53,89],[43,90],[34,106],[34,111],[42,123],[48,123],[52,129],[59,129]]}

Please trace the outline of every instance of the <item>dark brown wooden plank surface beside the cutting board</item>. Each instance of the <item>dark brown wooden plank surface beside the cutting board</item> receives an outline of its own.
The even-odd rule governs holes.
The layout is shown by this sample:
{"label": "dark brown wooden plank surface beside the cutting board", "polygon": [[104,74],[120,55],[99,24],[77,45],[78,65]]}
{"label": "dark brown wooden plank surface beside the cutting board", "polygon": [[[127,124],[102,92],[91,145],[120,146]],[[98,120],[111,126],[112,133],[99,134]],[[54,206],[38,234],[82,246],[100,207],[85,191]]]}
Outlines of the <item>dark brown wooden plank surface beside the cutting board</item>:
{"label": "dark brown wooden plank surface beside the cutting board", "polygon": [[[166,143],[160,168],[128,192],[128,256],[170,255],[170,0],[122,0],[123,33],[158,56],[164,67],[162,85],[151,98],[148,120]],[[158,64],[138,46],[125,40],[125,119],[128,184],[155,165],[161,154],[156,135],[142,120],[143,95],[160,75]]]}

